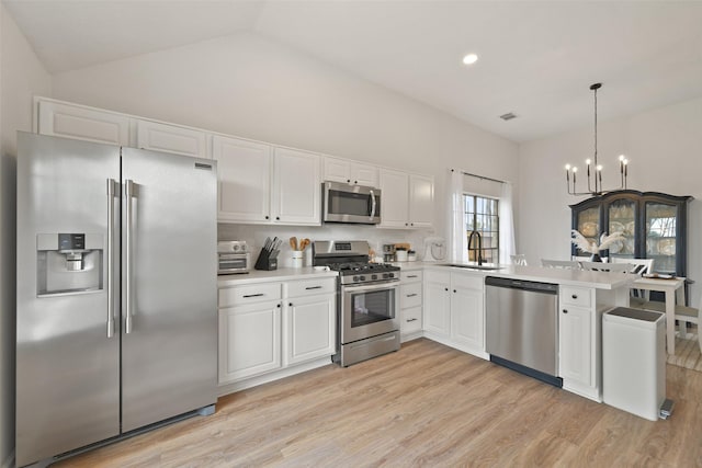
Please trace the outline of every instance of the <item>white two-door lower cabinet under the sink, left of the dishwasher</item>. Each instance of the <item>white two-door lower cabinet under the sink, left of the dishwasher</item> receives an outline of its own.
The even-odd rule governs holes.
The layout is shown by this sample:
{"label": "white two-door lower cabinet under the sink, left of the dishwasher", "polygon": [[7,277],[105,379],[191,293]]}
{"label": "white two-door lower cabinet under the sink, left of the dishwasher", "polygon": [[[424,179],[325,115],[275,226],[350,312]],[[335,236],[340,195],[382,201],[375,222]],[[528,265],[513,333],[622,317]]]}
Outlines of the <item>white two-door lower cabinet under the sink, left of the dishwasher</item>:
{"label": "white two-door lower cabinet under the sink, left of the dishwasher", "polygon": [[487,358],[483,276],[429,270],[424,278],[424,335]]}

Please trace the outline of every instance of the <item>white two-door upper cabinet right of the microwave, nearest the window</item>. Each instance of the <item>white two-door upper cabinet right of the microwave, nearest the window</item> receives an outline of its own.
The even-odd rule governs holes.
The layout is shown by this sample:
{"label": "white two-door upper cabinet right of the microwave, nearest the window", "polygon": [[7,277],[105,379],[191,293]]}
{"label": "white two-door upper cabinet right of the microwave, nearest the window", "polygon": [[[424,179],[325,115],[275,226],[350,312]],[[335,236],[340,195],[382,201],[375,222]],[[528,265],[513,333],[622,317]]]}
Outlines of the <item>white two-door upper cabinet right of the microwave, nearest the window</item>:
{"label": "white two-door upper cabinet right of the microwave, nearest the window", "polygon": [[431,227],[434,209],[434,183],[431,178],[381,169],[380,182],[381,227]]}

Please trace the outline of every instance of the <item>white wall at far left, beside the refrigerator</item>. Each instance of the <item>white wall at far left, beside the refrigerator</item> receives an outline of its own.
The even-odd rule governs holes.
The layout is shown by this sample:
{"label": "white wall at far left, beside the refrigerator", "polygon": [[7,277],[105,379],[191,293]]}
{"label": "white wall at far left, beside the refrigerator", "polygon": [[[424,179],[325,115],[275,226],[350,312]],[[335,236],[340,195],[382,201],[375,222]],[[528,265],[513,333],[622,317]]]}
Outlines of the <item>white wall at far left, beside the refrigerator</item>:
{"label": "white wall at far left, beside the refrigerator", "polygon": [[14,466],[16,130],[32,130],[32,95],[49,94],[50,77],[0,5],[0,464]]}

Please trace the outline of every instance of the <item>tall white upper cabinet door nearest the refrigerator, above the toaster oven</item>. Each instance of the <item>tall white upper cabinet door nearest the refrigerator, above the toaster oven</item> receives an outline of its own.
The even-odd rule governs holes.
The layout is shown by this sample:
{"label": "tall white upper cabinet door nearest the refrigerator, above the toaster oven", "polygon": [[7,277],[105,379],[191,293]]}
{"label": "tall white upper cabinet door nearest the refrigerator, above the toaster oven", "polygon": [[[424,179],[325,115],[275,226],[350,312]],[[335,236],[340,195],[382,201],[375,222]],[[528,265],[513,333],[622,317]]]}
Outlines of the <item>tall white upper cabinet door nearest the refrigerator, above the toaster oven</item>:
{"label": "tall white upper cabinet door nearest the refrigerator, above the toaster oven", "polygon": [[271,147],[214,136],[220,221],[270,222]]}

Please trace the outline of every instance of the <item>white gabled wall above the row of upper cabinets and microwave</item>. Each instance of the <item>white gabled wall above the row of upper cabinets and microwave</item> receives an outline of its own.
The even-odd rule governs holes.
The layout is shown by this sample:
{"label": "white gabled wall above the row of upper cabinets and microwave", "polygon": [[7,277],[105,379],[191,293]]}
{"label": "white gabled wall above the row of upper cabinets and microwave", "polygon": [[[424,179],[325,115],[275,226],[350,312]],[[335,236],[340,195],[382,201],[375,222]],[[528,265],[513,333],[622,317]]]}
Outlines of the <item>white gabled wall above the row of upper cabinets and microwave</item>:
{"label": "white gabled wall above the row of upper cabinets and microwave", "polygon": [[516,144],[257,35],[59,73],[53,84],[66,101],[433,174],[438,203],[449,168],[517,180]]}

